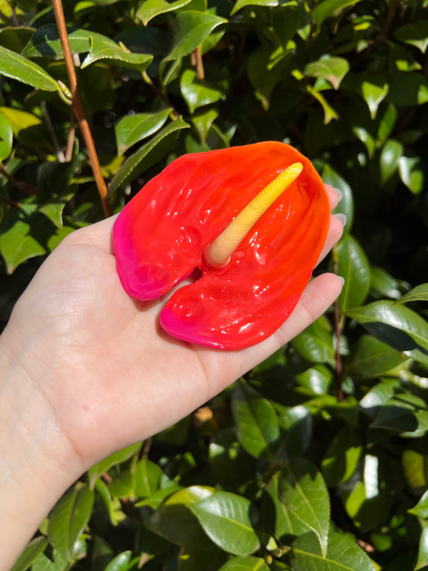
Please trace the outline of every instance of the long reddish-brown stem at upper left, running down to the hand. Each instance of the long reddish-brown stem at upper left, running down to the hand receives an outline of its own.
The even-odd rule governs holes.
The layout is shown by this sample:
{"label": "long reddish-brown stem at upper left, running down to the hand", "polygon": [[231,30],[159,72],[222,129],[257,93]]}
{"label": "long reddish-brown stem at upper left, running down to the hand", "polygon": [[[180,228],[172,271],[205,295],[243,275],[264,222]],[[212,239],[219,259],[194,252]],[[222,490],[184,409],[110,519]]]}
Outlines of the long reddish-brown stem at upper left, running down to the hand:
{"label": "long reddish-brown stem at upper left, running down to the hand", "polygon": [[89,160],[91,162],[92,172],[94,173],[96,188],[101,199],[103,206],[104,216],[108,218],[111,216],[112,210],[110,203],[106,199],[107,187],[106,181],[101,172],[98,155],[96,154],[94,139],[89,128],[86,115],[83,111],[82,100],[80,100],[79,91],[77,89],[76,70],[74,69],[74,62],[71,55],[70,43],[68,42],[66,20],[64,18],[64,10],[61,0],[52,0],[54,8],[56,26],[58,27],[58,34],[61,41],[62,53],[64,55],[64,62],[66,64],[68,79],[70,80],[71,91],[71,108],[74,112],[75,118],[79,123],[80,132],[82,132],[84,144],[86,145]]}

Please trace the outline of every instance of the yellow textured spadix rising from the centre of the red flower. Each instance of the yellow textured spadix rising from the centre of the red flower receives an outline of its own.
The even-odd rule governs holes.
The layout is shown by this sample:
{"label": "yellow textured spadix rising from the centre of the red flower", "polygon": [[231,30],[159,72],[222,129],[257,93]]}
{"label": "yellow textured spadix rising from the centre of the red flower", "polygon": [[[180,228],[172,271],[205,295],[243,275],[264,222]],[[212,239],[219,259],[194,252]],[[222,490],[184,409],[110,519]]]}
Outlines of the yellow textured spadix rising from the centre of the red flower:
{"label": "yellow textured spadix rising from the centre of the red flower", "polygon": [[272,180],[232,220],[227,228],[205,250],[205,260],[215,267],[223,268],[245,236],[271,204],[296,180],[302,172],[302,164],[294,163]]}

